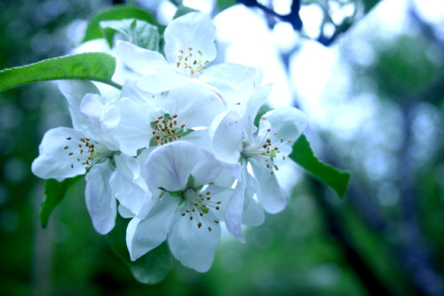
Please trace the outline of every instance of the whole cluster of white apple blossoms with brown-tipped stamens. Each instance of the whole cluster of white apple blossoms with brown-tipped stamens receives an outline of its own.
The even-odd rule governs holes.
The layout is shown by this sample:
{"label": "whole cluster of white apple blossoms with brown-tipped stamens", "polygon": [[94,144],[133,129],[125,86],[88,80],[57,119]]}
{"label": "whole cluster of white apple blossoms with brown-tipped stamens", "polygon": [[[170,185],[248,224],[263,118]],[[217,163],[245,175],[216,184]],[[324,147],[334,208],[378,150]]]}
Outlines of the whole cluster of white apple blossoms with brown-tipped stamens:
{"label": "whole cluster of white apple blossoms with brown-tipped stamens", "polygon": [[86,205],[107,234],[116,214],[131,218],[131,260],[168,240],[186,267],[210,269],[220,222],[244,242],[242,224],[258,226],[264,209],[287,197],[274,172],[305,129],[304,113],[276,108],[253,121],[271,85],[250,66],[211,65],[215,27],[201,12],[170,22],[165,57],[126,42],[116,49],[139,78],[107,100],[91,82],[63,81],[73,128],[44,135],[35,175],[62,181],[86,173]]}

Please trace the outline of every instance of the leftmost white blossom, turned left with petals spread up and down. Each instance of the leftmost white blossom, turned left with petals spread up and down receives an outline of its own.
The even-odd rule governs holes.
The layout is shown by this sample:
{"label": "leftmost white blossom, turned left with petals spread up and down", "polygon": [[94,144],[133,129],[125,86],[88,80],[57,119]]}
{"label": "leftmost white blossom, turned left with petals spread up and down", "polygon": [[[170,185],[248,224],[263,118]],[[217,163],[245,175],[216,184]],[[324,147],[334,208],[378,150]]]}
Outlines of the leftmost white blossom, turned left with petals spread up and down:
{"label": "leftmost white blossom, turned left with petals spread up and down", "polygon": [[[106,234],[115,226],[115,194],[123,196],[121,193],[133,186],[121,186],[113,191],[109,182],[113,178],[129,177],[128,171],[115,169],[115,165],[130,166],[131,159],[127,155],[115,153],[117,147],[113,140],[101,129],[99,115],[107,101],[99,96],[99,90],[91,82],[60,82],[59,89],[67,98],[74,129],[56,128],[47,131],[39,146],[39,156],[32,164],[32,171],[41,178],[58,181],[88,173],[86,206],[94,228],[100,234]],[[131,176],[133,174],[131,172]],[[142,186],[147,190],[146,184],[142,183]],[[129,202],[124,199],[120,202],[137,212],[140,207],[137,203],[143,204],[146,198],[144,192],[143,195],[132,197]]]}

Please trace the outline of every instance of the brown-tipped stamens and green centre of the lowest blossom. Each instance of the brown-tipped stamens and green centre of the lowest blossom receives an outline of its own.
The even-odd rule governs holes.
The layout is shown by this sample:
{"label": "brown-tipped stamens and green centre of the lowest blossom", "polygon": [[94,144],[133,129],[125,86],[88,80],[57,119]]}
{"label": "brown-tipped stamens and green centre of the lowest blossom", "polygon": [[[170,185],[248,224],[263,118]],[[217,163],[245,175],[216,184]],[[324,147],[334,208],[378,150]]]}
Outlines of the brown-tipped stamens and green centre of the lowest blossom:
{"label": "brown-tipped stamens and green centre of the lowest blossom", "polygon": [[[210,185],[213,183],[210,182]],[[220,209],[219,205],[222,203],[220,200],[214,201],[210,197],[211,192],[197,192],[194,191],[193,188],[188,188],[184,191],[184,198],[188,203],[188,206],[185,212],[182,213],[183,217],[189,216],[190,220],[194,220],[197,222],[197,228],[202,227],[202,222],[205,222],[201,217],[204,214],[208,214],[210,212],[210,208],[218,211]],[[214,220],[215,223],[219,223],[218,220]],[[211,231],[210,226],[208,226],[208,230]]]}

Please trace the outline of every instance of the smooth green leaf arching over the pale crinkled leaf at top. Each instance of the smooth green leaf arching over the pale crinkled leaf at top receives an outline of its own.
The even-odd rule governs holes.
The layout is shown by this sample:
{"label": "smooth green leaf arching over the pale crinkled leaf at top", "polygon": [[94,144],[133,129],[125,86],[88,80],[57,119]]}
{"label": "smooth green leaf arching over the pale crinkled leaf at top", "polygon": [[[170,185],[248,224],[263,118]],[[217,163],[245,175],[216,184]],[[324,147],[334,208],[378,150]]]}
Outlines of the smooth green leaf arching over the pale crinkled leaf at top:
{"label": "smooth green leaf arching over the pale crinkled leaf at top", "polygon": [[95,14],[86,27],[85,35],[81,43],[102,38],[102,31],[99,23],[102,20],[119,20],[119,19],[140,19],[148,23],[155,24],[155,19],[146,11],[136,8],[134,6],[115,5],[106,11]]}

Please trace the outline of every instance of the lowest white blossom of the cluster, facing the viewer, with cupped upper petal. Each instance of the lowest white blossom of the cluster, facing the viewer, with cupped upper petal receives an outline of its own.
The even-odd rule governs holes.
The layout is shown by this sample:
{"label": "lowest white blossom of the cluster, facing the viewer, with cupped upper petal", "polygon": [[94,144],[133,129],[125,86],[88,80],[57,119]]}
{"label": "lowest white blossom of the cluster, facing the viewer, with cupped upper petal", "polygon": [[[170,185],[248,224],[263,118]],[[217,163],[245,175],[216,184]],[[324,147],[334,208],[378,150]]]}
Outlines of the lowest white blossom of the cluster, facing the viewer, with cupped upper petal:
{"label": "lowest white blossom of the cluster, facing the viewer, with cupped upper petal", "polygon": [[210,269],[234,180],[222,169],[210,152],[186,142],[152,152],[147,183],[158,200],[146,218],[133,218],[128,225],[131,260],[168,238],[171,252],[183,265],[199,272]]}

